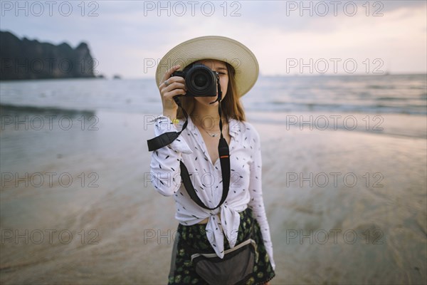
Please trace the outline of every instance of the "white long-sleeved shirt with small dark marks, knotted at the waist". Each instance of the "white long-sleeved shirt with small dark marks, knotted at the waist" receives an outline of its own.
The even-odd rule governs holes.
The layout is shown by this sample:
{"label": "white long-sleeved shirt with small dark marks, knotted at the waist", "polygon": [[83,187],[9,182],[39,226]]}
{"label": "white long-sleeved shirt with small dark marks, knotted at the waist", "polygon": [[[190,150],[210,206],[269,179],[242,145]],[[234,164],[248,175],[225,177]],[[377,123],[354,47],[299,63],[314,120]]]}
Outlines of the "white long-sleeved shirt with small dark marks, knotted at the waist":
{"label": "white long-sleeved shirt with small dark marks, knotted at the waist", "polygon": [[[261,150],[258,132],[248,122],[231,119],[228,130],[231,136],[230,149],[230,187],[226,201],[217,209],[209,210],[200,207],[191,200],[181,183],[179,162],[182,160],[191,178],[191,183],[202,202],[208,207],[216,207],[221,201],[222,174],[221,162],[215,164],[207,152],[204,140],[191,118],[186,129],[171,144],[152,152],[151,175],[152,185],[164,196],[174,196],[176,204],[175,218],[180,224],[193,225],[209,218],[206,224],[206,235],[218,255],[223,258],[224,236],[230,248],[236,245],[240,224],[240,214],[247,207],[253,210],[270,258],[273,260],[273,245],[263,202],[261,185]],[[175,126],[163,115],[153,120],[154,135],[181,130],[185,120]],[[221,219],[218,217],[221,213]],[[221,230],[222,229],[222,230]]]}

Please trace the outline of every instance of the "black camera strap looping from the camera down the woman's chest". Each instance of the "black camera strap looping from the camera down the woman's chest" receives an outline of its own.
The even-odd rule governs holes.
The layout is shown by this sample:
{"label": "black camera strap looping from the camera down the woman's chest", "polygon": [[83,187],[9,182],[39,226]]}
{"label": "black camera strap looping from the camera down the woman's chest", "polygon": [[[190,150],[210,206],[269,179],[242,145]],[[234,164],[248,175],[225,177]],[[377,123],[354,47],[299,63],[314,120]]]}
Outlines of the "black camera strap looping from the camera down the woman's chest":
{"label": "black camera strap looping from the camera down the woman's chest", "polygon": [[[221,120],[222,91],[221,91],[221,86],[219,83],[218,74],[217,74],[217,81],[216,82],[217,82],[217,86],[218,86],[217,87],[218,88],[218,98],[216,98],[216,100],[214,102],[212,102],[211,104],[215,103],[216,101],[219,101],[218,113],[219,113],[219,118],[220,118],[219,130],[221,131],[221,138],[219,139],[219,143],[218,143],[218,154],[219,154],[219,160],[221,162],[221,174],[222,174],[222,179],[223,179],[222,180],[223,192],[222,192],[222,196],[221,196],[221,201],[219,202],[218,206],[211,208],[211,207],[206,206],[204,204],[204,202],[201,201],[199,196],[197,196],[197,194],[196,194],[197,190],[194,189],[193,184],[191,183],[189,171],[187,170],[186,166],[184,165],[184,163],[182,161],[179,162],[179,167],[181,170],[181,181],[182,181],[182,183],[184,183],[184,187],[186,189],[186,192],[189,193],[190,198],[194,202],[196,202],[196,204],[198,204],[200,207],[202,207],[204,209],[209,209],[209,210],[217,209],[218,207],[221,206],[221,204],[223,204],[223,202],[226,201],[227,196],[228,196],[228,189],[230,187],[230,150],[228,148],[228,143],[227,143],[226,139],[223,137],[223,133],[222,133],[222,128],[223,128],[223,124],[222,124],[222,120]],[[182,109],[182,113],[184,113],[186,121],[185,121],[182,129],[179,132],[164,133],[162,135],[159,135],[156,138],[152,138],[151,140],[147,140],[149,151],[158,150],[159,148],[162,148],[166,145],[169,145],[171,142],[176,140],[176,138],[178,138],[178,136],[181,134],[181,132],[186,128],[186,126],[188,124],[188,114],[186,113],[184,108],[182,108],[181,102],[179,101],[179,95],[174,96],[174,100],[175,100],[176,105],[178,105],[179,108]]]}

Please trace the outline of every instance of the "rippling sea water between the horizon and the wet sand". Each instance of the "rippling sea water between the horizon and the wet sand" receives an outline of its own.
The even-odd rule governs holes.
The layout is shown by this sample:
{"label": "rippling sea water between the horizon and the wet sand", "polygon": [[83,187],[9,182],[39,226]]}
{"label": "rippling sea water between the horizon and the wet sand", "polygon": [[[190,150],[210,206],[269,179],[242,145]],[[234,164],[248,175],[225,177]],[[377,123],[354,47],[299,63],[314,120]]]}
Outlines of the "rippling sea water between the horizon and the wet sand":
{"label": "rippling sea water between the horizon and the wet sand", "polygon": [[[248,111],[427,114],[427,78],[391,76],[260,77],[242,100]],[[9,81],[2,105],[161,113],[152,79]]]}

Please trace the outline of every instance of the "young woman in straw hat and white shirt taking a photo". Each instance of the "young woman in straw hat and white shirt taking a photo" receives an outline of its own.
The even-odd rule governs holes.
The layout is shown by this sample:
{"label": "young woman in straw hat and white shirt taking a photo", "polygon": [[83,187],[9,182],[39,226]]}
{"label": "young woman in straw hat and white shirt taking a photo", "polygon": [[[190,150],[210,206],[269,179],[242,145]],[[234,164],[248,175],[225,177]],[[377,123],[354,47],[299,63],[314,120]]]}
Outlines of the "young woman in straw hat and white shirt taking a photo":
{"label": "young woman in straw hat and white shirt taking a photo", "polygon": [[[180,64],[172,66],[174,63]],[[193,63],[218,72],[221,102],[213,103],[216,96],[187,95],[184,78],[172,76]],[[181,106],[189,114],[188,125],[179,137],[152,152],[152,184],[160,194],[174,196],[175,217],[179,221],[169,284],[206,284],[196,273],[191,254],[210,252],[223,259],[227,249],[236,247],[248,237],[256,242],[257,258],[253,273],[242,284],[268,284],[275,276],[273,246],[263,203],[260,138],[253,125],[246,122],[240,102],[240,97],[257,79],[258,61],[253,53],[238,41],[221,36],[185,41],[172,48],[159,62],[156,80],[163,115],[155,119],[154,134],[159,136],[182,129],[186,119],[174,96],[181,95]],[[221,118],[218,104],[221,104]],[[209,210],[190,198],[181,183],[180,162],[187,167],[197,196],[206,206],[216,207],[223,191],[218,158],[220,120],[230,151],[231,178],[225,202]]]}

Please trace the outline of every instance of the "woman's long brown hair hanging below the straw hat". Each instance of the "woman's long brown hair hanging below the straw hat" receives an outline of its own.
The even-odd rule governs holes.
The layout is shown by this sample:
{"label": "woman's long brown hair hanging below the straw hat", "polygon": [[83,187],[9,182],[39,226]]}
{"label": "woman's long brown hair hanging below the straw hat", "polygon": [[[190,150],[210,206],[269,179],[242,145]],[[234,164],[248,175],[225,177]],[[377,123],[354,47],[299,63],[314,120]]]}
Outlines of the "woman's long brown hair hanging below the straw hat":
{"label": "woman's long brown hair hanging below the straw hat", "polygon": [[[234,78],[234,76],[236,75],[236,71],[234,70],[233,66],[228,63],[226,63],[226,67],[228,73],[228,86],[226,96],[223,98],[223,100],[221,100],[222,115],[224,118],[226,118],[227,122],[228,120],[230,120],[230,118],[239,121],[245,121],[245,110],[243,110],[243,105],[241,103],[240,98],[238,97],[236,90],[236,80]],[[182,96],[181,98],[179,98],[179,100],[181,100],[182,108],[186,110],[186,113],[191,115],[194,110],[194,97]],[[181,108],[178,108],[178,110],[176,110],[176,118],[185,118]]]}

